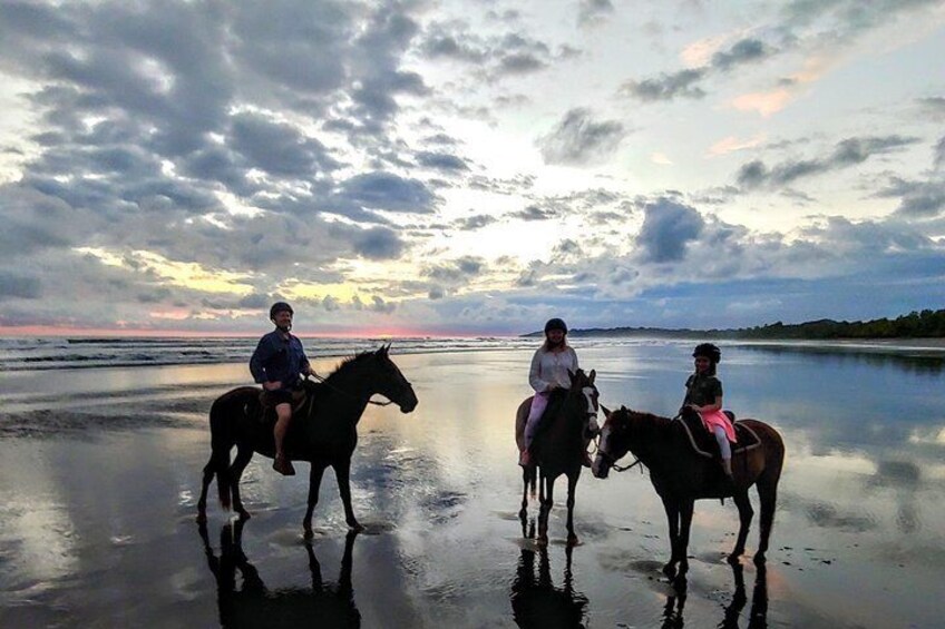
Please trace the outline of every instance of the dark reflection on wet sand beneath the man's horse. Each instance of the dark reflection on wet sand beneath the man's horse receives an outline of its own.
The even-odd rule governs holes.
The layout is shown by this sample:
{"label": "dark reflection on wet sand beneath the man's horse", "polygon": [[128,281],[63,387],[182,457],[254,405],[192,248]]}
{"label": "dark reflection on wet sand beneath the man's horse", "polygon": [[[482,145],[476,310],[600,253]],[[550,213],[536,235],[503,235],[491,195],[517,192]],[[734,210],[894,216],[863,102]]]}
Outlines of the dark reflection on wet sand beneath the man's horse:
{"label": "dark reflection on wet sand beneath the man's horse", "polygon": [[[223,627],[361,627],[361,613],[354,605],[351,587],[352,552],[358,531],[349,531],[344,540],[341,572],[335,583],[322,580],[321,564],[311,543],[305,543],[311,589],[286,588],[269,590],[256,568],[243,553],[243,525],[245,520],[227,523],[220,532],[220,557],[213,552],[205,523],[201,523],[201,538],[207,564],[216,579],[220,623]],[[236,572],[243,578],[236,588]]]}

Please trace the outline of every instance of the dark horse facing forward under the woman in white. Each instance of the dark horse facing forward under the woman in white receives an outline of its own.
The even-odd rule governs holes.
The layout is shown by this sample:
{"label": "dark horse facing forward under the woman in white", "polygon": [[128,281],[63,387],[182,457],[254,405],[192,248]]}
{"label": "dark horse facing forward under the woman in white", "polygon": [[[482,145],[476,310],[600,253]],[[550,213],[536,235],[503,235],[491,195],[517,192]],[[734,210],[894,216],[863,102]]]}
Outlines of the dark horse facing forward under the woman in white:
{"label": "dark horse facing forward under the woman in white", "polygon": [[[548,543],[548,513],[554,504],[555,481],[562,474],[567,475],[567,543],[577,543],[577,535],[574,534],[574,490],[581,478],[587,434],[597,430],[595,376],[594,371],[585,374],[577,370],[577,373],[571,374],[571,387],[559,403],[553,399],[548,404],[548,412],[542,419],[538,434],[532,444],[532,461],[535,465],[526,468],[522,473],[525,487],[519,518],[525,518],[527,513],[528,489],[532,488],[534,495],[535,476],[538,475],[538,501],[542,504],[538,512],[539,544]],[[516,442],[519,449],[523,446],[522,433],[530,409],[532,397],[525,400],[516,412]]]}

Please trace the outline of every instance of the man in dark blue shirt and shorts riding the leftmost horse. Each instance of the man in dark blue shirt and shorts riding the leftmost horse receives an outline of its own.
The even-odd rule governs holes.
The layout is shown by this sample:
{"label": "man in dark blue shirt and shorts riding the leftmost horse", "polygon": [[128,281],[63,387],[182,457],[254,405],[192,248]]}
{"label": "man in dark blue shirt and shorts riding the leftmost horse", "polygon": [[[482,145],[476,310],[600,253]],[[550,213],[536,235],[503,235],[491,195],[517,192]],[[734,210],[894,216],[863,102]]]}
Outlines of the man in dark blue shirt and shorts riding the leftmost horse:
{"label": "man in dark blue shirt and shorts riding the leftmost horse", "polygon": [[275,330],[260,338],[250,358],[253,380],[263,385],[266,403],[275,406],[275,460],[272,469],[286,476],[295,473],[292,462],[282,450],[292,420],[292,392],[302,385],[300,374],[315,375],[305,357],[302,342],[290,333],[294,314],[292,306],[285,302],[274,303],[269,311],[269,318],[275,324]]}

